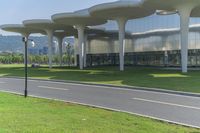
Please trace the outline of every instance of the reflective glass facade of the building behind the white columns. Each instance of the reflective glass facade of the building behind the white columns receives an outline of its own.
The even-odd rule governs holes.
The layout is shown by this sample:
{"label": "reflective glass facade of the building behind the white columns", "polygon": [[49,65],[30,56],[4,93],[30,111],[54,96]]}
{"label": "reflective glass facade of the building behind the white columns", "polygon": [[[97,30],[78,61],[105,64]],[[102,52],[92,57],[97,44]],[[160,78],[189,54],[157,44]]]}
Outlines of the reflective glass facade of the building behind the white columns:
{"label": "reflective glass facade of the building behind the white columns", "polygon": [[[179,16],[152,15],[149,17],[129,20],[126,32],[125,64],[150,66],[180,66],[180,33]],[[188,65],[200,66],[200,19],[191,18],[189,33]],[[118,30],[115,21],[101,25],[108,31]],[[195,28],[196,27],[196,28]],[[76,53],[78,56],[78,47]],[[90,38],[86,44],[87,65],[118,65],[118,36]],[[78,59],[78,58],[77,58]]]}

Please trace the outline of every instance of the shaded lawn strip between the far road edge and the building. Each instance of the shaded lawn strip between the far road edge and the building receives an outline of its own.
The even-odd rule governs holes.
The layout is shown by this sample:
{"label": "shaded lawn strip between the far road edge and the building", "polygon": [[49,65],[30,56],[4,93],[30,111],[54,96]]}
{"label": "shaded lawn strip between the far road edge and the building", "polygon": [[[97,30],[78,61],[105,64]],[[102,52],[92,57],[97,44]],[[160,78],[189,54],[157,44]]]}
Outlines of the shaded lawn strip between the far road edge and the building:
{"label": "shaded lawn strip between the far road edge and the building", "polygon": [[[1,76],[24,76],[23,65],[0,65]],[[118,67],[97,67],[79,70],[76,67],[49,69],[30,68],[32,78],[62,79],[81,82],[126,86],[155,87],[168,90],[200,93],[200,71],[182,74],[180,71],[156,68],[126,67],[120,72]]]}

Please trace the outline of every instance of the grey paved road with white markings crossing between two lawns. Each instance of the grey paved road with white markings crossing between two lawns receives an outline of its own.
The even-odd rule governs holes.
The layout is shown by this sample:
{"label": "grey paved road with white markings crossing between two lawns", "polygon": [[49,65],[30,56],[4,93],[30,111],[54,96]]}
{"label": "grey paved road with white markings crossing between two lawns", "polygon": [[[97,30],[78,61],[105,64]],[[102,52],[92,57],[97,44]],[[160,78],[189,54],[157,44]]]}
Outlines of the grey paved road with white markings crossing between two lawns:
{"label": "grey paved road with white markings crossing between two lawns", "polygon": [[[200,128],[200,98],[73,83],[29,80],[29,94],[120,110]],[[24,80],[0,78],[0,90],[23,93]]]}

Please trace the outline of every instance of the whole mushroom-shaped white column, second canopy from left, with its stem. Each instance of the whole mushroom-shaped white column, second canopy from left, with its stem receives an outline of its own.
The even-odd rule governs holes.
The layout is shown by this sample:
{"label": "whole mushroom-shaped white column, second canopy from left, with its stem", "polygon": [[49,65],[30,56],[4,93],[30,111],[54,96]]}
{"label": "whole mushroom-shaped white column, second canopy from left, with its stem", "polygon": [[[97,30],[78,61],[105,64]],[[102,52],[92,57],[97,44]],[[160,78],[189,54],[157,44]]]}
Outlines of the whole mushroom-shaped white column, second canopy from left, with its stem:
{"label": "whole mushroom-shaped white column, second canopy from left, with its stem", "polygon": [[33,20],[25,20],[23,24],[26,27],[37,28],[40,30],[44,30],[48,36],[48,57],[49,57],[49,68],[52,68],[52,50],[53,50],[53,34],[56,30],[63,30],[72,28],[70,26],[65,26],[61,24],[55,24],[51,20],[48,19],[33,19]]}

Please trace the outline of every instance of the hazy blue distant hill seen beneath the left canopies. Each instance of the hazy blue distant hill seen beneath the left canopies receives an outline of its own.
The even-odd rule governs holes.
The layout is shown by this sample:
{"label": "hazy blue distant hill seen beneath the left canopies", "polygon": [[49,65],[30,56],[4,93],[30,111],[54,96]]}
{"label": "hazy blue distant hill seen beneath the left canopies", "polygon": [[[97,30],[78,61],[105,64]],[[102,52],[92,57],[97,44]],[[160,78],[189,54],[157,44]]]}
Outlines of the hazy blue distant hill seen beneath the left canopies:
{"label": "hazy blue distant hill seen beneath the left canopies", "polygon": [[[44,46],[48,46],[48,39],[46,36],[35,36],[30,37],[36,43],[36,47],[43,48]],[[73,38],[65,39],[70,44],[74,44]],[[0,52],[10,51],[10,52],[20,52],[23,51],[24,44],[22,42],[21,36],[3,36],[0,35]]]}

